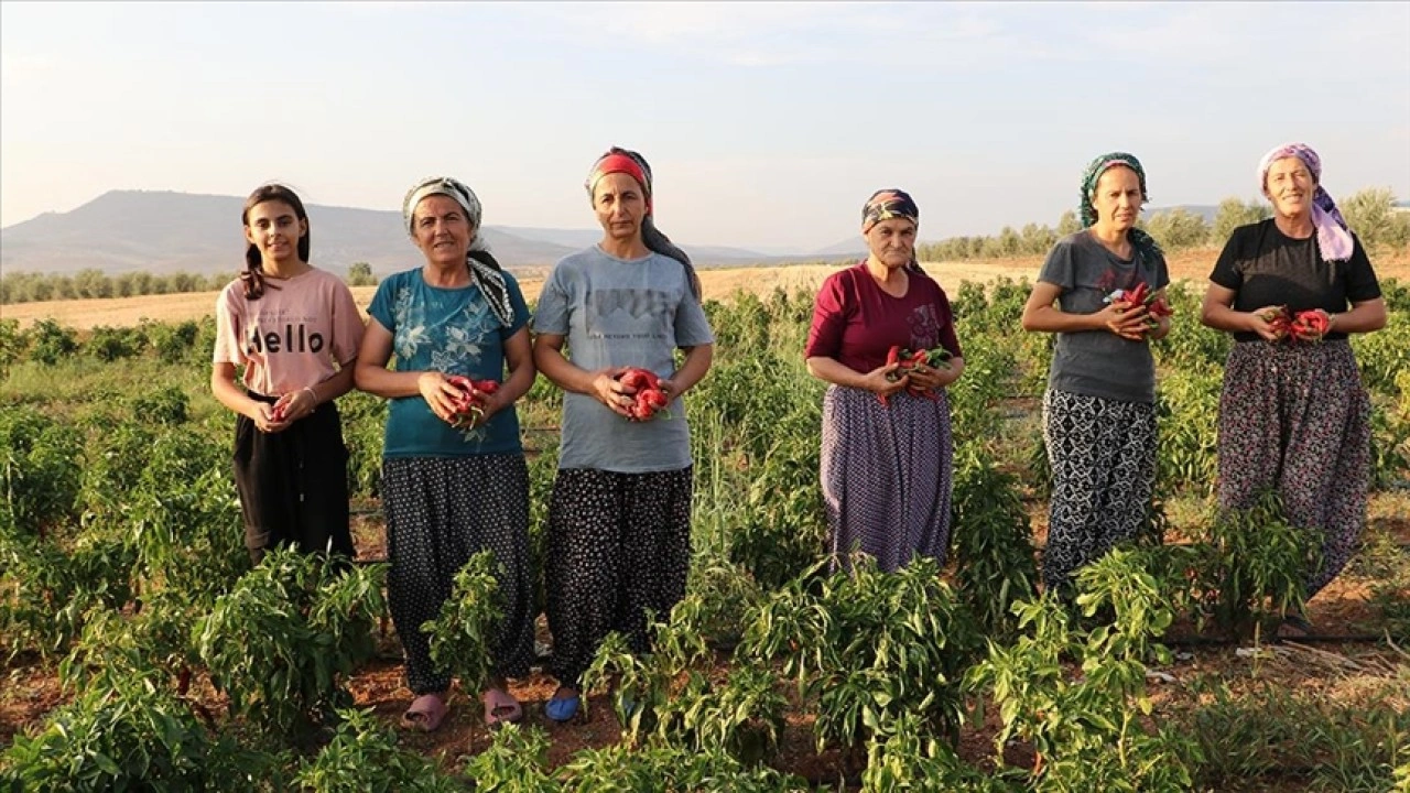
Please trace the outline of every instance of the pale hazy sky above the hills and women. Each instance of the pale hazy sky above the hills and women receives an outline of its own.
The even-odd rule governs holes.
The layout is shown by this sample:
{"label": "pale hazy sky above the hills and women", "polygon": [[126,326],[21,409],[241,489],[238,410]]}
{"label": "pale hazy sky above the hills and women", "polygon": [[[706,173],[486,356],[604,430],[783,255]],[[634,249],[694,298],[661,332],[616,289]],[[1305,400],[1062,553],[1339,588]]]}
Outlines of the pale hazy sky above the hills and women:
{"label": "pale hazy sky above the hills and women", "polygon": [[1410,3],[0,3],[0,226],[110,189],[589,229],[618,144],[677,241],[814,250],[878,188],[921,237],[1053,224],[1136,154],[1152,206],[1258,195],[1289,140],[1334,196],[1410,198]]}

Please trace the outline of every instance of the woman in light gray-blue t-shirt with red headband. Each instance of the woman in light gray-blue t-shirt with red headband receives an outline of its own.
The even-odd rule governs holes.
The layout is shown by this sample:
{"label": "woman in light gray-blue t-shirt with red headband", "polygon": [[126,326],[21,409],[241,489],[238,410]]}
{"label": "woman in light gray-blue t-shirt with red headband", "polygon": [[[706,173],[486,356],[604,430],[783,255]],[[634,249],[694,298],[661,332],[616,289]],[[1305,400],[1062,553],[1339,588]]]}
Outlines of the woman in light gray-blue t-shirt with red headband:
{"label": "woman in light gray-blue t-shirt with red headband", "polygon": [[[689,257],[651,219],[646,159],[613,147],[587,188],[602,241],[554,267],[533,319],[534,363],[564,389],[544,560],[554,721],[578,713],[578,679],[608,632],[646,652],[646,611],[664,618],[685,597],[692,467],[681,395],[705,377],[715,343]],[[667,416],[632,420],[636,389],[618,380],[629,367],[660,378]]]}

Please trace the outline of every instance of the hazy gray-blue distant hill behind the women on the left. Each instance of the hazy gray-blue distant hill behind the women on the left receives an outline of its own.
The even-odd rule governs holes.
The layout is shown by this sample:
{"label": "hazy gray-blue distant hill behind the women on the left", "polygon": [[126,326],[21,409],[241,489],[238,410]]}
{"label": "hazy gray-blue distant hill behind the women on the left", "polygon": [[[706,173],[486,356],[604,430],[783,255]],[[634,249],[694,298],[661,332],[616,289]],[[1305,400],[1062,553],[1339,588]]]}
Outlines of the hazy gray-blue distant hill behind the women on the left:
{"label": "hazy gray-blue distant hill behind the women on the left", "polygon": [[[111,190],[72,212],[49,212],[0,229],[0,271],[72,274],[100,270],[195,274],[244,265],[244,199],[169,190]],[[307,205],[313,262],[333,272],[365,261],[386,275],[415,267],[420,254],[400,212]],[[509,270],[543,268],[601,238],[588,229],[486,226],[485,238]],[[811,258],[766,255],[719,246],[684,246],[701,267],[780,264]]]}

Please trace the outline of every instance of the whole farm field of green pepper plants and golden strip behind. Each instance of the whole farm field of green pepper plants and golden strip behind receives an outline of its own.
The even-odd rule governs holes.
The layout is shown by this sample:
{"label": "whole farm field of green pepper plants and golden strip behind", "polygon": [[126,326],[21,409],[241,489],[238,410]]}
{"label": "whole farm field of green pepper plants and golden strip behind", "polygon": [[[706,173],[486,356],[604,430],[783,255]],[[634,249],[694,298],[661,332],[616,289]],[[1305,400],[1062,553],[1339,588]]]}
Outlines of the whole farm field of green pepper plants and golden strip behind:
{"label": "whole farm field of green pepper plants and golden strip behind", "polygon": [[[932,787],[916,789],[1084,790],[1100,779],[1139,790],[1379,792],[1397,785],[1397,768],[1399,785],[1410,785],[1410,255],[1373,257],[1392,320],[1355,340],[1376,408],[1371,523],[1348,570],[1308,605],[1327,635],[1277,646],[1253,632],[1266,604],[1231,600],[1246,559],[1234,559],[1213,516],[1228,340],[1196,316],[1215,257],[1172,257],[1186,284],[1173,295],[1176,327],[1155,347],[1152,528],[1198,556],[1145,546],[1108,557],[1090,593],[1105,603],[1098,614],[1115,615],[1120,642],[1100,621],[1063,622],[1034,598],[1046,529],[1036,409],[1050,339],[1022,333],[1018,312],[1041,260],[926,264],[956,306],[967,358],[950,395],[955,547],[938,577],[863,576],[856,590],[808,574],[825,535],[823,385],[804,371],[801,349],[814,289],[835,268],[704,270],[719,346],[688,398],[689,608],[666,628],[671,649],[654,666],[599,658],[605,677],[649,703],[643,720],[623,728],[599,691],[584,724],[551,724],[541,703],[553,682],[536,672],[513,686],[526,704],[522,731],[489,735],[471,686],[440,731],[395,741],[410,693],[376,597],[385,405],[361,394],[340,401],[369,564],[330,594],[292,560],[288,580],[251,573],[238,547],[233,418],[207,387],[213,292],[0,306],[0,782],[65,763],[111,780],[97,756],[131,773],[142,755],[149,779],[197,779],[199,755],[204,773],[264,780],[223,789],[367,789],[402,769],[427,790],[468,779],[479,789],[515,779],[526,790],[644,790],[630,786],[633,773],[691,763],[733,779],[712,790],[926,780]],[[522,284],[533,301],[541,274]],[[355,289],[361,306],[372,291]],[[536,542],[558,405],[540,378],[520,406]],[[1256,531],[1286,539],[1276,526]],[[1263,571],[1241,586],[1276,594],[1287,557],[1249,547],[1239,553]],[[289,594],[295,580],[306,591]],[[310,614],[341,604],[341,622],[278,615],[275,604],[299,597]],[[1015,619],[1010,608],[1029,600],[1026,621]],[[327,641],[317,653],[307,649],[314,636]],[[547,634],[540,639],[550,652]],[[878,652],[887,646],[897,652]],[[290,703],[371,715],[319,731]],[[134,713],[161,725],[134,727]],[[431,786],[440,779],[447,787]]]}

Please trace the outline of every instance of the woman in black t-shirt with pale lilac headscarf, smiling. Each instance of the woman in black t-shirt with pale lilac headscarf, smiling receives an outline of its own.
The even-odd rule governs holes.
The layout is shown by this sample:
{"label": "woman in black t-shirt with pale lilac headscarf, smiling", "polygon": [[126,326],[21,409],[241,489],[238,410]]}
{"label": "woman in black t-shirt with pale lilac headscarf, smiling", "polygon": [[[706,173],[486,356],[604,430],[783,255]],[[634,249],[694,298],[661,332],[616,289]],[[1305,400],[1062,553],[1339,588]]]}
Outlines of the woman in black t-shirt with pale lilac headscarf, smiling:
{"label": "woman in black t-shirt with pale lilac headscarf, smiling", "polygon": [[[1237,509],[1276,490],[1287,521],[1321,535],[1311,600],[1345,567],[1366,522],[1371,399],[1347,334],[1385,327],[1386,303],[1361,240],[1321,188],[1317,152],[1280,145],[1263,155],[1259,181],[1273,217],[1230,236],[1200,316],[1237,341],[1220,395],[1218,501]],[[1280,632],[1311,625],[1290,614]]]}

